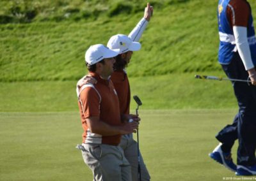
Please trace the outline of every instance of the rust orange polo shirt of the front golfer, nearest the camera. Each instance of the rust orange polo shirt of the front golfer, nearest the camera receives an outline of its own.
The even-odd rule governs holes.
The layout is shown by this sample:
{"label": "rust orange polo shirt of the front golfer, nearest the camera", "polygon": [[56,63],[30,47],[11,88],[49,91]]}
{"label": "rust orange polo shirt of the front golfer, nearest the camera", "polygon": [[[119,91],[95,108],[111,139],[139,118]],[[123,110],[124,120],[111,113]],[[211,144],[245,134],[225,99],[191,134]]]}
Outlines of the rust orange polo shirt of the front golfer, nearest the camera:
{"label": "rust orange polo shirt of the front golfer, nearest the camera", "polygon": [[122,124],[118,96],[112,81],[103,80],[97,73],[89,74],[97,80],[97,83],[93,84],[94,88],[86,87],[83,89],[79,96],[78,106],[84,129],[83,143],[118,145],[121,140],[120,134],[115,136],[102,136],[100,134],[93,134],[88,129],[85,119],[94,116],[99,117],[101,121],[112,126]]}

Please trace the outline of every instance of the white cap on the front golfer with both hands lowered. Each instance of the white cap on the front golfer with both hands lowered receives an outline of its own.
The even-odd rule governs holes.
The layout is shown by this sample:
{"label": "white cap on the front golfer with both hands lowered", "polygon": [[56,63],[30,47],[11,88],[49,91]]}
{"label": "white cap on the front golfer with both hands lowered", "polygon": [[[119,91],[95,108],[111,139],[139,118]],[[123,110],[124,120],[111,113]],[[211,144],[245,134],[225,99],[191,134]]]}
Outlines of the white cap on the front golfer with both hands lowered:
{"label": "white cap on the front golfer with both hands lowered", "polygon": [[88,66],[92,66],[93,64],[102,61],[102,59],[116,57],[119,52],[119,49],[110,50],[102,44],[92,45],[85,52],[85,61],[88,63]]}

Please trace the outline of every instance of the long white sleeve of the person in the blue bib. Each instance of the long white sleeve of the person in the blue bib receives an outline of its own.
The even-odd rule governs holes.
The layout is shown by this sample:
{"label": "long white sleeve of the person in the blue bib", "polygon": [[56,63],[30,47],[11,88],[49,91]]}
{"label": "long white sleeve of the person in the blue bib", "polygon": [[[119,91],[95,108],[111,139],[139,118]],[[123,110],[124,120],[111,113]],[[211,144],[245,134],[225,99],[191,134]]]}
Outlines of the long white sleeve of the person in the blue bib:
{"label": "long white sleeve of the person in the blue bib", "polygon": [[234,26],[234,36],[238,53],[243,61],[246,70],[254,68],[252,56],[247,39],[247,27]]}

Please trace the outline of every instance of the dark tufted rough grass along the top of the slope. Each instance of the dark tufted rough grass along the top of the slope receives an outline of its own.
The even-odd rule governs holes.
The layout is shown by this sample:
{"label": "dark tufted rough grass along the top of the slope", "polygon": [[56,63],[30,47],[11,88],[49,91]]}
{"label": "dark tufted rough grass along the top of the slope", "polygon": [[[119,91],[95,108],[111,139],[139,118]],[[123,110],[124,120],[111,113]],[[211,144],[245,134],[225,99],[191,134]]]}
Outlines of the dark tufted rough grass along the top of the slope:
{"label": "dark tufted rough grass along the top of the slope", "polygon": [[[187,3],[189,0],[150,1],[154,8]],[[147,1],[146,1],[147,2]],[[28,23],[81,19],[93,20],[98,17],[129,15],[144,10],[143,0],[13,0],[0,2],[0,23]]]}

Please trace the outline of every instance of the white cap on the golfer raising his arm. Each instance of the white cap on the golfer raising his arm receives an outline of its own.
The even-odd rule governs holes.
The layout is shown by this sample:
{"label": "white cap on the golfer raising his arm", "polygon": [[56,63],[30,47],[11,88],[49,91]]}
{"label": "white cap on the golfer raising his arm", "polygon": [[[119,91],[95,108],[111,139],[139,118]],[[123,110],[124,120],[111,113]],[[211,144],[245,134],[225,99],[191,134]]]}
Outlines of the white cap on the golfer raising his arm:
{"label": "white cap on the golfer raising his arm", "polygon": [[132,41],[131,38],[124,34],[116,34],[112,36],[108,41],[108,48],[120,49],[120,54],[123,54],[128,51],[138,51],[141,48],[141,44],[136,41]]}

